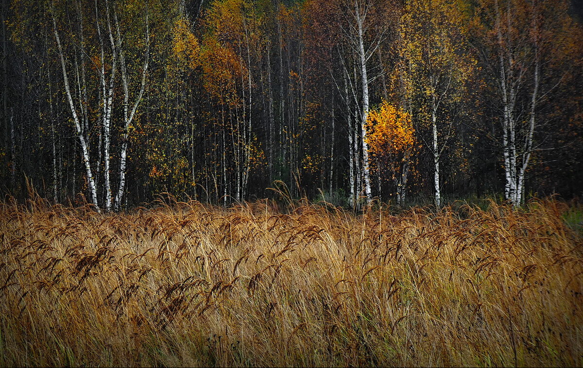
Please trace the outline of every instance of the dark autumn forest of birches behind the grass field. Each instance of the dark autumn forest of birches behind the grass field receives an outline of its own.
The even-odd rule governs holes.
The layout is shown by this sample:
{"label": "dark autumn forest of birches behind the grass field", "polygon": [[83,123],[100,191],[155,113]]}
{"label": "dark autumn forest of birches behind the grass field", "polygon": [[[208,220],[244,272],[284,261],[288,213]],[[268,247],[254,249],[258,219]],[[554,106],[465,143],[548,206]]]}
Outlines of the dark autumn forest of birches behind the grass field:
{"label": "dark autumn forest of birches behind the grass field", "polygon": [[0,190],[105,210],[283,183],[347,206],[581,196],[582,8],[2,0]]}

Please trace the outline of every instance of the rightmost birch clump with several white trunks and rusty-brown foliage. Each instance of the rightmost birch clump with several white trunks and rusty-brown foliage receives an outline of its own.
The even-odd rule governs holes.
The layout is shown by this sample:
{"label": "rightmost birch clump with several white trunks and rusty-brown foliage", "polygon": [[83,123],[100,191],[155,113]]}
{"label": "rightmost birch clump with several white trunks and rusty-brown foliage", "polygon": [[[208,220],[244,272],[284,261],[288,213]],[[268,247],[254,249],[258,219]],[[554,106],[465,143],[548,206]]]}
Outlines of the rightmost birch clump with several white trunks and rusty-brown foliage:
{"label": "rightmost birch clump with several white trunks and rusty-brown foliage", "polygon": [[496,83],[504,195],[514,206],[524,203],[526,172],[532,154],[542,148],[535,142],[538,128],[545,125],[538,118],[540,104],[552,97],[566,74],[553,70],[553,59],[568,54],[566,10],[566,2],[558,0],[484,0],[479,8],[477,48]]}

